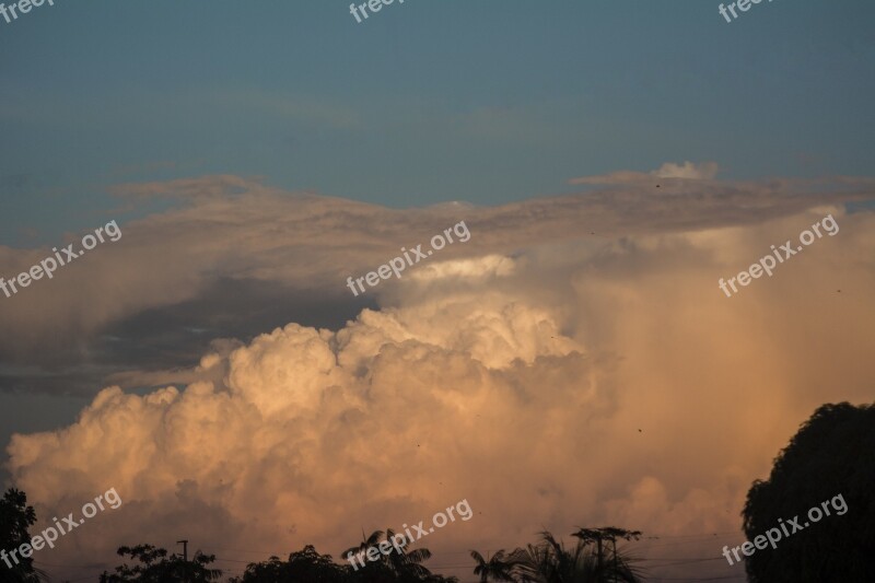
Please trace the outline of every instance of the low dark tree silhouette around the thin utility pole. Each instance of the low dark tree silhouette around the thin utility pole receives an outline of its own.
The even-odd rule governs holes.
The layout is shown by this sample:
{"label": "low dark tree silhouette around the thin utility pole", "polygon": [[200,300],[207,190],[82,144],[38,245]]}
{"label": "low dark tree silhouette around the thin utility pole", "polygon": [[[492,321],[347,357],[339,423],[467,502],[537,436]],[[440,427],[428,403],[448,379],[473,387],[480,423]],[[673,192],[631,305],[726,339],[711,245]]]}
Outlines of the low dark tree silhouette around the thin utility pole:
{"label": "low dark tree silhouette around the thin utility pole", "polygon": [[220,569],[207,567],[215,560],[215,556],[200,551],[190,561],[175,555],[168,558],[166,549],[153,545],[120,547],[117,552],[121,557],[130,555],[140,564],[116,567],[116,572],[112,574],[104,571],[101,583],[207,583],[222,576]]}

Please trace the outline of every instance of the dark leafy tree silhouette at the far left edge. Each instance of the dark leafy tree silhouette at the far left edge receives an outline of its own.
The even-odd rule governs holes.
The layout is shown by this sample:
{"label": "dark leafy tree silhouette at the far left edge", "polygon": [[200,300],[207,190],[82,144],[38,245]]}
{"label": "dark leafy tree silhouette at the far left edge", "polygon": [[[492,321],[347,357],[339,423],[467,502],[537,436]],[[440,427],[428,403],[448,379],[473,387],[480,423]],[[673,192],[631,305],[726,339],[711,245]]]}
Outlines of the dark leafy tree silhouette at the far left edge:
{"label": "dark leafy tree silhouette at the far left edge", "polygon": [[[31,541],[27,529],[36,523],[36,511],[27,505],[27,494],[21,490],[10,488],[0,499],[0,550],[4,552],[18,549],[23,544]],[[46,574],[33,565],[33,558],[15,555],[18,564],[7,556],[7,561],[0,562],[0,583],[36,583],[40,579],[47,580]]]}

